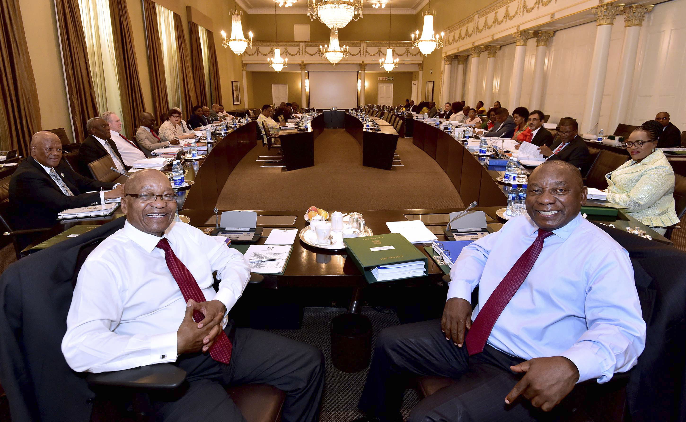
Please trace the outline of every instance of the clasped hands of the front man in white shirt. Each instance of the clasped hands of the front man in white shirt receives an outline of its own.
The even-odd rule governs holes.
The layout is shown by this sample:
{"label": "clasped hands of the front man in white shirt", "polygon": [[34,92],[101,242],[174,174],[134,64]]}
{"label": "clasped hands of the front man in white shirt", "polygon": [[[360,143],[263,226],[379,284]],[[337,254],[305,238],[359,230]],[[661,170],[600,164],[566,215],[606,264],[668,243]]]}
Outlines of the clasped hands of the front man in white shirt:
{"label": "clasped hands of the front man in white shirt", "polygon": [[[193,320],[193,311],[196,310],[205,316],[199,323]],[[176,352],[181,354],[208,351],[222,332],[224,313],[226,306],[221,301],[196,302],[189,299],[186,303],[186,314],[176,332]]]}

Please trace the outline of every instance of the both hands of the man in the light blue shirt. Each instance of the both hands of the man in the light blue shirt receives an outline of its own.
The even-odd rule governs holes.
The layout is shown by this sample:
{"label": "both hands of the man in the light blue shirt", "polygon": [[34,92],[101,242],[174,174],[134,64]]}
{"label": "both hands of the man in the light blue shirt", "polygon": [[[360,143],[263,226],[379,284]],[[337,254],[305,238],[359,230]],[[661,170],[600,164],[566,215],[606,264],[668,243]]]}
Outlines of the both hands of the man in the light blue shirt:
{"label": "both hands of the man in the light blue shirt", "polygon": [[[440,327],[445,333],[445,339],[452,341],[457,347],[462,347],[466,331],[471,328],[471,312],[471,303],[459,297],[448,299],[445,303]],[[563,356],[534,358],[510,369],[524,373],[524,376],[512,387],[505,397],[505,403],[511,404],[521,395],[545,412],[557,406],[579,380],[576,365]]]}

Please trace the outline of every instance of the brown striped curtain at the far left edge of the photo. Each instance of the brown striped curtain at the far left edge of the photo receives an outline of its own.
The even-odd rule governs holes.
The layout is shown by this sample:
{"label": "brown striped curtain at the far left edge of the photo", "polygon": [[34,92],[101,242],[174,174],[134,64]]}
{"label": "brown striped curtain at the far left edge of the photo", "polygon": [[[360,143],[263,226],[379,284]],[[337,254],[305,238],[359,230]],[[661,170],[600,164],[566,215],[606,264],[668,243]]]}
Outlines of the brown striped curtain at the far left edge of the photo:
{"label": "brown striped curtain at the far left edge of the photo", "polygon": [[27,157],[40,130],[40,108],[17,0],[0,1],[0,93],[1,148]]}

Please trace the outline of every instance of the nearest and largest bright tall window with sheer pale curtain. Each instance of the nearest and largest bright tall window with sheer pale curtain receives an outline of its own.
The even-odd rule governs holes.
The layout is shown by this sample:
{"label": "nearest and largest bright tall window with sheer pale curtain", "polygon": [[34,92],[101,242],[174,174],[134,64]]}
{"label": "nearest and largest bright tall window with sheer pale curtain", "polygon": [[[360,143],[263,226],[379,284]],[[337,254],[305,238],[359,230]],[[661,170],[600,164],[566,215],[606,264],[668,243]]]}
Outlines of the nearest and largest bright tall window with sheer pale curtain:
{"label": "nearest and largest bright tall window with sheer pale curtain", "polygon": [[78,2],[97,108],[100,112],[115,112],[121,118],[119,76],[112,36],[110,2],[103,0],[78,0]]}

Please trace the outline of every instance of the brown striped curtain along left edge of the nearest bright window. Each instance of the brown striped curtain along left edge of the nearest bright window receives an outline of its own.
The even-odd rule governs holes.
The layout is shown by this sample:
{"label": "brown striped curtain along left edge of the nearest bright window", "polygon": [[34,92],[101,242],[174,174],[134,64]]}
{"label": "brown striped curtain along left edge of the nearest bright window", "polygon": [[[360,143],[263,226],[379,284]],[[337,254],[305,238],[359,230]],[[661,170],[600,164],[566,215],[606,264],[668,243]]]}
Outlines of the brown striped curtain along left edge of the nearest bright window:
{"label": "brown striped curtain along left edge of the nearest bright window", "polygon": [[75,140],[81,142],[86,134],[86,121],[99,116],[91,71],[88,68],[86,38],[77,1],[55,0],[55,8],[62,45],[64,79],[67,80],[71,124]]}

